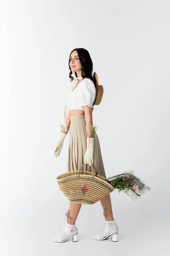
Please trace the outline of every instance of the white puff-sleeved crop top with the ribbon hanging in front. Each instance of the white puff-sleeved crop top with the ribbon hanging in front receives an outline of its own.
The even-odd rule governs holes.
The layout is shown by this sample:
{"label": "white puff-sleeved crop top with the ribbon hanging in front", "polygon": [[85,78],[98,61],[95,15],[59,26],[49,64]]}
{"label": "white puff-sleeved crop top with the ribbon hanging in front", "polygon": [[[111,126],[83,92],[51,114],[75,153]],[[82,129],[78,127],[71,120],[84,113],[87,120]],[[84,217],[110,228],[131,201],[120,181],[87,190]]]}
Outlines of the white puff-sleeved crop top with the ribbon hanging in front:
{"label": "white puff-sleeved crop top with the ribbon hanging in front", "polygon": [[[72,81],[73,87],[66,99],[65,108],[69,110],[84,110],[85,106],[93,108],[93,103],[96,97],[96,87],[94,82],[90,78],[84,78],[77,86],[77,82],[82,77],[77,77],[75,80]],[[66,128],[66,111],[64,111],[64,126],[65,131]]]}

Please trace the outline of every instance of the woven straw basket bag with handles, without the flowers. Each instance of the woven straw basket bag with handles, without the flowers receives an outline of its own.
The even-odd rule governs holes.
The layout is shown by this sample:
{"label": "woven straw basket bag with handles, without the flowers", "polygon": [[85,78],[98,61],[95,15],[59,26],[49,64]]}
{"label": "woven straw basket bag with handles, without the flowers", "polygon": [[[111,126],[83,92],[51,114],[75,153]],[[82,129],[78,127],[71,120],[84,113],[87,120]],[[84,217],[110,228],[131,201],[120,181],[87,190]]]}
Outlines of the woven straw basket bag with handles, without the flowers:
{"label": "woven straw basket bag with handles, without the flowers", "polygon": [[72,202],[78,204],[94,204],[106,195],[111,193],[115,188],[109,184],[105,177],[94,175],[94,164],[92,172],[83,171],[82,164],[80,170],[65,172],[57,176],[57,183],[62,193]]}

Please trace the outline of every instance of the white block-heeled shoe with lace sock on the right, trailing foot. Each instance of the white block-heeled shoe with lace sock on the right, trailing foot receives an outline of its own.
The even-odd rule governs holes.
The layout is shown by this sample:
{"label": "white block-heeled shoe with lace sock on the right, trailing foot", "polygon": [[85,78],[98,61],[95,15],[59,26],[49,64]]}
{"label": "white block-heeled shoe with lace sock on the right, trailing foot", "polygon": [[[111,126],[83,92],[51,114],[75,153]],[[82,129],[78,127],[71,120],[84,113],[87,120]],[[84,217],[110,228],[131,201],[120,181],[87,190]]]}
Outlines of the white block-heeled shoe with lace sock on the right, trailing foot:
{"label": "white block-heeled shoe with lace sock on the right, trailing foot", "polygon": [[109,236],[112,236],[111,241],[117,242],[119,240],[118,227],[115,221],[105,221],[105,229],[97,236],[93,238],[96,240],[105,240]]}

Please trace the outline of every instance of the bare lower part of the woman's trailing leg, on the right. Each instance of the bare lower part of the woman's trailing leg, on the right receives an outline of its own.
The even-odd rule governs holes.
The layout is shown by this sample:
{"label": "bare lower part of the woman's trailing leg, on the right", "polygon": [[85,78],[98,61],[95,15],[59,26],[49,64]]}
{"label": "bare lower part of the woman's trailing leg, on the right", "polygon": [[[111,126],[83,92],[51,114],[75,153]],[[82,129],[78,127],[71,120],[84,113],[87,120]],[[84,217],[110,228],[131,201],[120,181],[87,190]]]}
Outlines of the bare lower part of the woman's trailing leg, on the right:
{"label": "bare lower part of the woman's trailing leg, on the right", "polygon": [[110,194],[108,194],[107,196],[102,198],[100,200],[100,203],[102,204],[102,208],[103,208],[103,211],[104,211],[103,214],[105,216],[105,220],[106,221],[114,221]]}

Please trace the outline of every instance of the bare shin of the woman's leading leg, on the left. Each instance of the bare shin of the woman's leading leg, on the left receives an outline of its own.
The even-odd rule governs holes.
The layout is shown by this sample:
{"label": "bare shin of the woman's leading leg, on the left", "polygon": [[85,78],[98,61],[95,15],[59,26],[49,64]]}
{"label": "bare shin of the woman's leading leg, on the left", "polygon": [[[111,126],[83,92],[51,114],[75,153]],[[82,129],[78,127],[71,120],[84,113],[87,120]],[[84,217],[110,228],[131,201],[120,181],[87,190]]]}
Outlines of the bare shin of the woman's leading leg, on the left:
{"label": "bare shin of the woman's leading leg, on the left", "polygon": [[65,212],[65,215],[67,216],[68,224],[70,224],[70,225],[75,224],[81,206],[82,206],[82,204],[77,204],[77,203],[70,201],[70,209],[68,209],[68,212]]}

